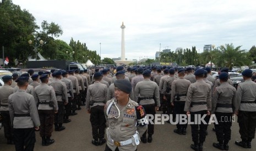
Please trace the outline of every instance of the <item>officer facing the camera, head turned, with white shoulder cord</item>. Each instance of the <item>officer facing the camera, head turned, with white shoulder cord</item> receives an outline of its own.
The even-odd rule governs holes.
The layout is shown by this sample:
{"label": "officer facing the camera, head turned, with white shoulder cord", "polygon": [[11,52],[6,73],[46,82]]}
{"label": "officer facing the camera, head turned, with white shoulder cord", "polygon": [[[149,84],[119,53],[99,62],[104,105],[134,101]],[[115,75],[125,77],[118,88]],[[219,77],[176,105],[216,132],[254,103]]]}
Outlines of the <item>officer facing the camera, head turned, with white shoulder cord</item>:
{"label": "officer facing the camera, head turned, with white shoulder cord", "polygon": [[143,106],[130,100],[132,85],[125,79],[115,81],[115,98],[104,110],[108,128],[105,151],[137,150],[139,137],[148,128]]}

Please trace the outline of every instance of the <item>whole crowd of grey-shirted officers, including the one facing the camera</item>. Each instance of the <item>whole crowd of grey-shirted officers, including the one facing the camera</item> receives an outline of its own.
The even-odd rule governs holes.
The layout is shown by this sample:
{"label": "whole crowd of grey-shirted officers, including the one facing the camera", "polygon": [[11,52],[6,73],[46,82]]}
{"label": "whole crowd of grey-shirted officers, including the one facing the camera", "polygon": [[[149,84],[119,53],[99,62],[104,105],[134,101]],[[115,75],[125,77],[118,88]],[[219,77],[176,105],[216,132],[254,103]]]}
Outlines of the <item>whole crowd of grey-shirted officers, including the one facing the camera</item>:
{"label": "whole crowd of grey-shirted officers, including the one facing the camera", "polygon": [[[206,115],[206,123],[215,114],[217,143],[213,146],[220,150],[229,149],[232,115],[236,114],[242,141],[235,144],[251,148],[256,127],[256,83],[250,69],[242,72],[245,82],[237,90],[228,68],[222,68],[216,79],[209,67],[118,66],[96,68],[93,73],[90,76],[87,70],[76,69],[34,74],[30,69],[20,77],[4,76],[0,111],[7,143],[15,143],[16,150],[33,150],[35,130],[39,130],[42,146],[48,146],[55,142],[51,139],[53,125],[55,131],[64,130],[63,123],[70,122],[69,116],[85,106],[90,113],[91,143],[101,146],[107,142],[105,150],[137,150],[139,141],[151,143],[154,124],[148,123],[146,114],[155,115],[156,111],[173,114],[174,118],[184,114],[191,121]],[[179,122],[173,131],[186,135],[187,124]],[[190,126],[190,147],[203,150],[208,124]]]}

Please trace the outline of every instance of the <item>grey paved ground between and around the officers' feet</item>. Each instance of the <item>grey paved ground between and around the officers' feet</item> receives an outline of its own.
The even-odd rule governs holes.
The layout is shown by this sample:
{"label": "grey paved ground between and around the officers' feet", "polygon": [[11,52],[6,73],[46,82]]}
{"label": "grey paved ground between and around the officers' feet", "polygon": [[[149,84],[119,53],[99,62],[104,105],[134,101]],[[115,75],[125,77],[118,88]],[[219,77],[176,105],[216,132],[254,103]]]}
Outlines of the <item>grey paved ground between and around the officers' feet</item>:
{"label": "grey paved ground between and around the officers' feet", "polygon": [[[61,132],[53,131],[52,138],[55,139],[56,143],[42,147],[41,138],[39,132],[36,132],[36,144],[35,150],[104,150],[104,146],[94,146],[91,144],[91,124],[89,121],[89,114],[85,112],[85,109],[78,111],[78,115],[70,117],[72,122],[64,124],[66,130]],[[141,143],[138,150],[192,150],[190,144],[192,143],[192,137],[190,133],[190,126],[188,126],[188,134],[186,136],[177,135],[173,132],[175,125],[164,124],[155,126],[155,134],[153,136],[152,143]],[[211,129],[213,125],[209,125],[206,142],[204,144],[204,150],[218,150],[215,149],[212,144],[216,142],[216,135]],[[252,146],[254,149],[244,149],[235,145],[235,141],[239,140],[238,124],[233,123],[232,136],[230,142],[230,150],[255,150],[256,141],[253,140]],[[15,150],[13,145],[7,145],[4,138],[3,128],[0,130],[0,150],[9,151]]]}

